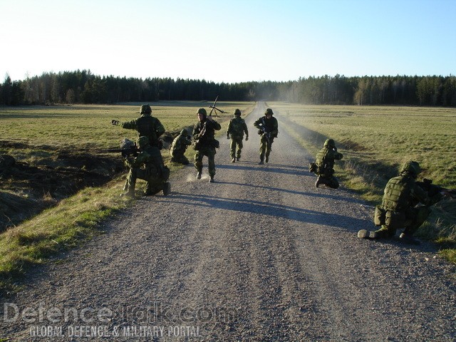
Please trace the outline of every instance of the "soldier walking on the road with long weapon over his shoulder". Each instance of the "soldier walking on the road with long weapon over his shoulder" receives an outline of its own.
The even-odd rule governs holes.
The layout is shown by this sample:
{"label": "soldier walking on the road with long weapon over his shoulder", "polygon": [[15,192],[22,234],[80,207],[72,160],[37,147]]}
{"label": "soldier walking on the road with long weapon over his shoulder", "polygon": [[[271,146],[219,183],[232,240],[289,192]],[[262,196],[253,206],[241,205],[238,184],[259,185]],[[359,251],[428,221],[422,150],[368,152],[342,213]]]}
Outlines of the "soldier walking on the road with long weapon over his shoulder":
{"label": "soldier walking on the road with long weapon over his shoulder", "polygon": [[217,121],[212,119],[212,116],[207,116],[204,108],[199,108],[197,111],[199,122],[193,128],[193,140],[195,140],[195,168],[197,169],[197,180],[201,179],[202,158],[207,156],[207,168],[209,170],[209,182],[214,182],[215,175],[215,153],[219,147],[219,142],[215,140],[214,135],[216,130],[220,130]]}

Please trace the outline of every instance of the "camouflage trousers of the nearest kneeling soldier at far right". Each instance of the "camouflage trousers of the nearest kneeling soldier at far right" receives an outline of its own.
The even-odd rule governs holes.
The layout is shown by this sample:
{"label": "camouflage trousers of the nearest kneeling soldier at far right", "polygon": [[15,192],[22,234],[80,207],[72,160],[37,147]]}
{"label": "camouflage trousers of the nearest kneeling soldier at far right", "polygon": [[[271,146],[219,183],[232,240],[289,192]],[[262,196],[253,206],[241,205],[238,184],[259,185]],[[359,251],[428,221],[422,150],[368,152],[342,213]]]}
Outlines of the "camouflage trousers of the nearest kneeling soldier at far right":
{"label": "camouflage trousers of the nearest kneeling soldier at far right", "polygon": [[376,230],[380,237],[394,237],[397,229],[404,228],[404,233],[413,235],[421,224],[425,222],[431,210],[429,207],[420,206],[409,209],[407,212],[386,212],[385,224]]}

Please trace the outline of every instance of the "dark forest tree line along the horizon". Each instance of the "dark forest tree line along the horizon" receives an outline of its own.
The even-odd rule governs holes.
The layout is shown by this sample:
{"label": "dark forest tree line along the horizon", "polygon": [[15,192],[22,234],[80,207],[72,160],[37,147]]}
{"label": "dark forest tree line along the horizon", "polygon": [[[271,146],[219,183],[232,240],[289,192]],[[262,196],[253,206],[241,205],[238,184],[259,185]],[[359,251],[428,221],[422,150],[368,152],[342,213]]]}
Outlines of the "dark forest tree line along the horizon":
{"label": "dark forest tree line along the horizon", "polygon": [[0,83],[0,105],[126,103],[158,100],[283,100],[309,105],[432,105],[456,107],[455,76],[320,76],[297,81],[214,83],[182,78],[97,76],[89,71],[43,73]]}

